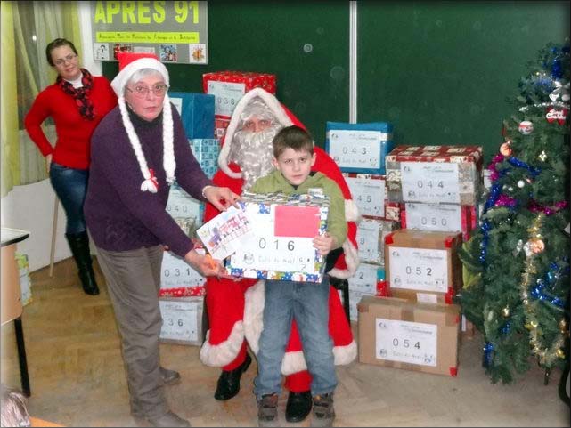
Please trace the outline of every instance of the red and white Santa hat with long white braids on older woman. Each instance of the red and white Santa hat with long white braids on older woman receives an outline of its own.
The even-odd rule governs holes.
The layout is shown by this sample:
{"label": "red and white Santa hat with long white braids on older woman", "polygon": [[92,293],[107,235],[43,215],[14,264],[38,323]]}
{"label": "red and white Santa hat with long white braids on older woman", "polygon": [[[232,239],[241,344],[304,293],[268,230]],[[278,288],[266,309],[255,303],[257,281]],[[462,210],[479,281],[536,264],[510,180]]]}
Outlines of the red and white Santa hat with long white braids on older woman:
{"label": "red and white Santa hat with long white braids on older woman", "polygon": [[[129,118],[124,93],[126,84],[129,82],[131,77],[133,77],[136,71],[142,69],[158,71],[163,77],[165,85],[168,86],[168,70],[165,65],[159,61],[159,58],[152,53],[118,52],[117,59],[119,61],[119,72],[111,82],[111,87],[113,88],[113,91],[117,93],[118,106],[121,111],[123,125],[125,126],[126,133],[129,136],[129,141],[131,141],[131,146],[135,151],[135,156],[137,157],[141,173],[143,174],[144,181],[141,184],[141,190],[156,193],[157,190],[159,190],[159,182],[157,182],[157,178],[151,173],[149,166],[147,166],[147,160],[145,159],[143,149],[141,148],[141,141],[139,141],[139,137],[135,132],[131,119]],[[175,150],[173,146],[173,133],[173,116],[170,99],[168,98],[168,95],[165,94],[165,98],[163,100],[163,167],[167,173],[168,185],[175,182],[176,163]]]}

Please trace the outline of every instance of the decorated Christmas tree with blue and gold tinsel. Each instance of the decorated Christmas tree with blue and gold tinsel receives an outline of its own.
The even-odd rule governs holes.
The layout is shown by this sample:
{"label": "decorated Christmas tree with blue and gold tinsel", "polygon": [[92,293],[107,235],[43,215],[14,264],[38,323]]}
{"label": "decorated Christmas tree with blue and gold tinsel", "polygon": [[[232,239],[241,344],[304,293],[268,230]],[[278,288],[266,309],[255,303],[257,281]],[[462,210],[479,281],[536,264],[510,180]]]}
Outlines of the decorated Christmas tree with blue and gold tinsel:
{"label": "decorated Christmas tree with blue and gold tinsel", "polygon": [[[563,367],[569,313],[569,42],[548,44],[519,84],[477,233],[463,246],[466,318],[483,365],[508,384],[536,359]],[[533,357],[533,358],[532,358]]]}

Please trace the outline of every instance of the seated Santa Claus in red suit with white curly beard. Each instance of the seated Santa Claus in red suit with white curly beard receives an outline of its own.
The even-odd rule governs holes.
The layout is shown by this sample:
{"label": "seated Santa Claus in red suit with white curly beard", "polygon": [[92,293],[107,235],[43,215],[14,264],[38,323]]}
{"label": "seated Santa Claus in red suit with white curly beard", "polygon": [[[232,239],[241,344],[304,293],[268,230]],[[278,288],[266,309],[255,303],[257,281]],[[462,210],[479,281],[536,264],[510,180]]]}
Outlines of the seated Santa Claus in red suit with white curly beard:
{"label": "seated Santa Claus in red suit with white curly beard", "polygon": [[[249,190],[257,178],[273,170],[273,136],[282,127],[289,125],[304,127],[271,93],[261,88],[246,93],[232,113],[218,157],[220,169],[213,182],[218,186],[229,187],[235,193]],[[358,265],[355,242],[355,220],[358,215],[356,206],[337,164],[319,147],[315,147],[314,151],[316,162],[312,169],[337,182],[346,199],[347,240],[329,275],[347,279],[355,273]],[[205,222],[217,214],[219,212],[216,208],[208,204]],[[222,367],[223,372],[218,379],[214,396],[216,400],[229,400],[240,391],[241,374],[251,363],[246,342],[249,343],[250,350],[257,354],[263,327],[264,281],[232,281],[208,277],[206,289],[209,330],[200,350],[200,360],[208,366]],[[334,343],[335,363],[348,364],[355,359],[357,348],[339,294],[334,287],[330,287],[329,302],[329,327]],[[290,391],[286,420],[302,421],[312,408],[311,376],[307,372],[295,321],[281,364],[281,372],[286,375],[284,386]]]}

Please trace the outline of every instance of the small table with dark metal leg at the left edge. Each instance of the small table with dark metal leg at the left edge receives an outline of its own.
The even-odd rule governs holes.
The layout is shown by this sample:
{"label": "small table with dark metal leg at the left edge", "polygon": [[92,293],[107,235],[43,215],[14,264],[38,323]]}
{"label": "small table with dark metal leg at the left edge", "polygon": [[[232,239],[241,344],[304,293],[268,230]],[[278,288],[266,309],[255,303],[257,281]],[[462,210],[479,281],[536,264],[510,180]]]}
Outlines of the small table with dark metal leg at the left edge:
{"label": "small table with dark metal leg at the left edge", "polygon": [[14,321],[18,361],[20,363],[21,388],[24,395],[31,395],[29,389],[28,361],[24,343],[24,329],[21,322],[20,273],[16,263],[16,244],[29,237],[29,231],[2,227],[2,325]]}

